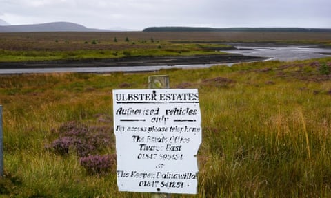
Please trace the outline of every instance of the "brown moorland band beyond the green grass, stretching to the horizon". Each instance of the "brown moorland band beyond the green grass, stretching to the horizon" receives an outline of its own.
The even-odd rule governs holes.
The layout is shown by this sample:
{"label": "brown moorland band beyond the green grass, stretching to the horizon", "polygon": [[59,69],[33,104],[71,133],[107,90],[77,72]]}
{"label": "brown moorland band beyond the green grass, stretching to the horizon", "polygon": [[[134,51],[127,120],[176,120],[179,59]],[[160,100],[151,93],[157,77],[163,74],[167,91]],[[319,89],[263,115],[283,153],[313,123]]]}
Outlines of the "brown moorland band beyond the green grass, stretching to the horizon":
{"label": "brown moorland band beyond the green grass, stretching to the horizon", "polygon": [[[118,42],[114,42],[114,38]],[[28,32],[0,33],[2,50],[123,50],[130,41],[330,41],[328,32]],[[92,42],[97,41],[97,45]],[[68,45],[70,44],[70,45]],[[154,47],[135,43],[134,48]]]}

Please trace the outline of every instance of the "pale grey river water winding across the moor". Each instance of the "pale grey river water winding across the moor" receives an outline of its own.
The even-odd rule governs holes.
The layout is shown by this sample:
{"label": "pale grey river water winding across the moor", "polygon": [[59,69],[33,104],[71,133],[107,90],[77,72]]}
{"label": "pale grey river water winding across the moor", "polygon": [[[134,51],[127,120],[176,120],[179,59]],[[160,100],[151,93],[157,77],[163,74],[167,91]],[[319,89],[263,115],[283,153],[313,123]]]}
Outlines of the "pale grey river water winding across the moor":
{"label": "pale grey river water winding across the moor", "polygon": [[[268,60],[279,61],[296,61],[310,58],[322,58],[331,56],[331,48],[318,48],[314,46],[272,46],[265,47],[255,43],[232,43],[238,50],[227,50],[222,52],[243,54],[245,56],[260,56]],[[323,54],[324,53],[324,54]],[[328,55],[329,54],[329,55]],[[225,65],[233,65],[235,63],[224,63]],[[130,67],[66,67],[66,68],[32,68],[32,69],[0,69],[0,74],[27,74],[27,73],[52,73],[52,72],[150,72],[160,69],[192,69],[192,68],[207,68],[218,64],[199,64],[199,65],[155,65],[155,66],[130,66]]]}

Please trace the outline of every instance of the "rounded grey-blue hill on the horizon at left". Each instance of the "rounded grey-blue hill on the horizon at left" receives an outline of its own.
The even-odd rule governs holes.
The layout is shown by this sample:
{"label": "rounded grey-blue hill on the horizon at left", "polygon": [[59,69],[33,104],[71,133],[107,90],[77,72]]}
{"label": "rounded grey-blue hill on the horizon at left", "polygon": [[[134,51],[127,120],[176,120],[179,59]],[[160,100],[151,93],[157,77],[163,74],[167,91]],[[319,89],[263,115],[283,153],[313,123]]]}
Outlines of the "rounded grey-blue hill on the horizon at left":
{"label": "rounded grey-blue hill on the horizon at left", "polygon": [[108,32],[108,31],[109,30],[86,28],[83,25],[79,25],[77,23],[69,23],[69,22],[0,26],[0,32]]}

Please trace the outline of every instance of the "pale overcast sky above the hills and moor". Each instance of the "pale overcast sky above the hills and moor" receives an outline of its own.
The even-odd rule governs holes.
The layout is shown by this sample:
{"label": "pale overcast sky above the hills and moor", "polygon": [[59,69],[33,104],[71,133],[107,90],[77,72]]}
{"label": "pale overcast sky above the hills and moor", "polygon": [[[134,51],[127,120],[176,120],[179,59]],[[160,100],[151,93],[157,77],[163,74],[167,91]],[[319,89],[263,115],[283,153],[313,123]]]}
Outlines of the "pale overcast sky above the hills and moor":
{"label": "pale overcast sky above the hills and moor", "polygon": [[331,28],[331,0],[0,0],[10,25],[67,21],[88,28],[151,26]]}

